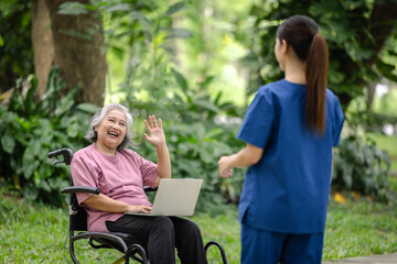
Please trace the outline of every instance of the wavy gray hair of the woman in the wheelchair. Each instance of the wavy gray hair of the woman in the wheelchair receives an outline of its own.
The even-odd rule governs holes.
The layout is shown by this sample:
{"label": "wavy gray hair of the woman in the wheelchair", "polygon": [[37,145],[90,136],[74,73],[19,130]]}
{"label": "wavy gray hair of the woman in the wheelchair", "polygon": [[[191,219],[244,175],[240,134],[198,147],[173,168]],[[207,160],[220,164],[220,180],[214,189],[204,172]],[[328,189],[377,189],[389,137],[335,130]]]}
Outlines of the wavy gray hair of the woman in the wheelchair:
{"label": "wavy gray hair of the woman in the wheelchair", "polygon": [[97,127],[104,120],[106,114],[110,110],[114,110],[114,109],[122,111],[127,117],[126,135],[125,135],[122,142],[120,143],[120,145],[117,146],[117,151],[121,151],[124,148],[127,148],[128,146],[136,146],[136,144],[132,142],[133,135],[131,132],[132,116],[129,112],[128,108],[126,108],[125,106],[117,103],[117,102],[111,102],[111,103],[106,105],[104,108],[100,108],[94,114],[85,138],[87,140],[89,140],[90,142],[95,143],[98,139],[98,134],[95,131],[95,127]]}

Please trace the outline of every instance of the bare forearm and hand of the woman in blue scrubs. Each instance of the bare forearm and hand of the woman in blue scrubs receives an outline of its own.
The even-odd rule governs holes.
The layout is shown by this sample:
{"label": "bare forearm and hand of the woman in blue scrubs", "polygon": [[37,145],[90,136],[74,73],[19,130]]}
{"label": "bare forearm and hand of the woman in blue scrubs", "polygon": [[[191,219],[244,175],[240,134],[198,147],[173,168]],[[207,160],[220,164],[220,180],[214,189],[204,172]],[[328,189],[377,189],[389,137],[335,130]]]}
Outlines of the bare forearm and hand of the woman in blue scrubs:
{"label": "bare forearm and hand of the woman in blue scrubs", "polygon": [[248,167],[256,164],[261,158],[262,153],[262,148],[247,144],[246,147],[230,156],[222,156],[218,161],[221,177],[230,177],[234,167]]}

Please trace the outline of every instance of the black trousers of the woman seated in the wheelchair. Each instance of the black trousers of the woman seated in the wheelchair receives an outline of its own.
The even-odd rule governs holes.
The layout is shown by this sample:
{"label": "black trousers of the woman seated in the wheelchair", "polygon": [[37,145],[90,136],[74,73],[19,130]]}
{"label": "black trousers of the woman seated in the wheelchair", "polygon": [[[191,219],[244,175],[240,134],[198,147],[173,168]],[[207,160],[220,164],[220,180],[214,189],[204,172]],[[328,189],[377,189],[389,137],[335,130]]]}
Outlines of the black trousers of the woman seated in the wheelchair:
{"label": "black trousers of the woman seated in the wheelchair", "polygon": [[206,264],[196,223],[178,217],[122,216],[106,221],[110,232],[129,233],[143,243],[151,264],[174,264],[175,248],[182,264]]}

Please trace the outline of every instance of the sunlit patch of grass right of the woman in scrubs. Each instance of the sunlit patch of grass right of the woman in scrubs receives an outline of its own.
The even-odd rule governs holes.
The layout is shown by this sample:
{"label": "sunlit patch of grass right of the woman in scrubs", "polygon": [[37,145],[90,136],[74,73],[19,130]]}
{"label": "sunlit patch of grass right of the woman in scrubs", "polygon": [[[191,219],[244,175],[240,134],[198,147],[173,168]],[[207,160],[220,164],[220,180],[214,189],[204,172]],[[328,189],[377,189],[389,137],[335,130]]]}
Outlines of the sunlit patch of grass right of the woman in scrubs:
{"label": "sunlit patch of grass right of the woman in scrubs", "polygon": [[397,251],[395,205],[385,206],[347,199],[330,202],[324,241],[324,260],[364,256]]}

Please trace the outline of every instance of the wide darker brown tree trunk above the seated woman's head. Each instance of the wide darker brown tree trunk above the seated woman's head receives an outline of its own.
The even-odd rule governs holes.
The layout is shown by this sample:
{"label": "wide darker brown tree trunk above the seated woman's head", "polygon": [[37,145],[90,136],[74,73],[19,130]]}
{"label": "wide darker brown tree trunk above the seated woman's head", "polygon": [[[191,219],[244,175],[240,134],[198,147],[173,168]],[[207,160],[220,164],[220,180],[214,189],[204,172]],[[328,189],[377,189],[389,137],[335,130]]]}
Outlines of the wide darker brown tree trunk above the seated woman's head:
{"label": "wide darker brown tree trunk above the seated woman's head", "polygon": [[[45,0],[54,42],[54,64],[71,90],[83,87],[79,101],[104,105],[106,57],[101,20],[95,12],[60,14],[67,0]],[[89,4],[88,0],[81,1]]]}

